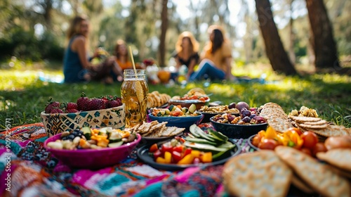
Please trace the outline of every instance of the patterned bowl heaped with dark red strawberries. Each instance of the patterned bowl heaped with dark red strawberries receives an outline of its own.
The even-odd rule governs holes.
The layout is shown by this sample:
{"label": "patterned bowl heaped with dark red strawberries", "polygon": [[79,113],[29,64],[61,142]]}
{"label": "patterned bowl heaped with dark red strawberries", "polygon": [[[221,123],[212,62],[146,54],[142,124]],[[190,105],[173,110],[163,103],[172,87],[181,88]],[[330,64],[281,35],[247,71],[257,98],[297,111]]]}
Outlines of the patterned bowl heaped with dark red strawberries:
{"label": "patterned bowl heaped with dark red strawberries", "polygon": [[40,117],[48,136],[81,127],[119,129],[125,125],[124,104],[117,96],[89,98],[81,94],[77,102],[67,103],[51,98]]}

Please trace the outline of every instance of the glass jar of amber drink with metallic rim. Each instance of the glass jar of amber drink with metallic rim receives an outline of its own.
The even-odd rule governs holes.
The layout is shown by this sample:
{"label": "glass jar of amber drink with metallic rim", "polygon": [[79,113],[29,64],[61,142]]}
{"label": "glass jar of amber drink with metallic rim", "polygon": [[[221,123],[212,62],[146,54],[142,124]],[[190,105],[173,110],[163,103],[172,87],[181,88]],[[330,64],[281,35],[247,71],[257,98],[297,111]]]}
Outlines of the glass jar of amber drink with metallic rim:
{"label": "glass jar of amber drink with metallic rim", "polygon": [[124,70],[124,82],[121,85],[122,103],[126,110],[126,127],[134,127],[146,121],[147,87],[145,70]]}

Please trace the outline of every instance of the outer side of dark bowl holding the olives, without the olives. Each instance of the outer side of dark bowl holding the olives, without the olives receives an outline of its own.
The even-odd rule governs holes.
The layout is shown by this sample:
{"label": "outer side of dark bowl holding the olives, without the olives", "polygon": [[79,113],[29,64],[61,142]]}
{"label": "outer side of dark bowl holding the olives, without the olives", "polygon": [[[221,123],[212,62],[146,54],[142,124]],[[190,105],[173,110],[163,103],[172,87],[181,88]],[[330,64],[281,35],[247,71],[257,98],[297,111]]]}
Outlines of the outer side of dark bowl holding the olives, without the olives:
{"label": "outer side of dark bowl holding the olives, without the olives", "polygon": [[213,117],[210,118],[211,124],[217,132],[228,136],[232,139],[247,139],[250,136],[257,134],[261,130],[267,129],[267,122],[256,125],[236,125],[236,124],[226,124],[213,121]]}

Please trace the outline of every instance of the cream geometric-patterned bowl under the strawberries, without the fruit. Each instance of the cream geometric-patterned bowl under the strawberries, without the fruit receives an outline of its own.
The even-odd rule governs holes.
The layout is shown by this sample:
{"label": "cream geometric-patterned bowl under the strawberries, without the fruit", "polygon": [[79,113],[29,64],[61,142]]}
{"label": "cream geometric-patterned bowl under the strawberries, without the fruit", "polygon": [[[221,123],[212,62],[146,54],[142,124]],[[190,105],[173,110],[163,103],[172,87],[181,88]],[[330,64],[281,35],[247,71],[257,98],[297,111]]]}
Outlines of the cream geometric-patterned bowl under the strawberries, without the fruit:
{"label": "cream geometric-patterned bowl under the strawberries, without the fruit", "polygon": [[45,113],[40,114],[46,134],[53,136],[71,129],[81,127],[112,127],[119,129],[125,125],[124,104],[116,108],[81,111],[78,113]]}

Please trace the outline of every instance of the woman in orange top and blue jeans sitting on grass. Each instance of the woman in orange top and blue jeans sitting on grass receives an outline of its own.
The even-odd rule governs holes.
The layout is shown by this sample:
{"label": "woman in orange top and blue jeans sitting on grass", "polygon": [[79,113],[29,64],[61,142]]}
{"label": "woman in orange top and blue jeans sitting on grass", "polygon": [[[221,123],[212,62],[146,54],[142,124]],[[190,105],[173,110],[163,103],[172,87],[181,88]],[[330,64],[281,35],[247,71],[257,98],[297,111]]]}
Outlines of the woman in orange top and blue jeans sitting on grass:
{"label": "woman in orange top and blue jeans sitting on grass", "polygon": [[201,53],[197,72],[192,73],[190,81],[201,80],[205,75],[211,80],[236,80],[232,75],[232,49],[223,31],[217,25],[208,27],[210,41]]}

